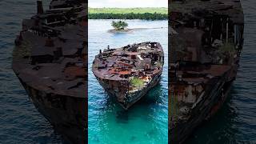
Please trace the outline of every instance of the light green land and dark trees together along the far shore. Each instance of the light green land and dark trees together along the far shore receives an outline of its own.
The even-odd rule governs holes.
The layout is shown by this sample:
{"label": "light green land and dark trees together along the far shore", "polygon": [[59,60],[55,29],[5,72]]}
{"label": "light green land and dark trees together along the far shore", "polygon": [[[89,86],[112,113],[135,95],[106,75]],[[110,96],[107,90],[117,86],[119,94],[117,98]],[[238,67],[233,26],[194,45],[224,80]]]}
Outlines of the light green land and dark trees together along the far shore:
{"label": "light green land and dark trees together along the far shore", "polygon": [[89,8],[89,19],[166,20],[167,8]]}

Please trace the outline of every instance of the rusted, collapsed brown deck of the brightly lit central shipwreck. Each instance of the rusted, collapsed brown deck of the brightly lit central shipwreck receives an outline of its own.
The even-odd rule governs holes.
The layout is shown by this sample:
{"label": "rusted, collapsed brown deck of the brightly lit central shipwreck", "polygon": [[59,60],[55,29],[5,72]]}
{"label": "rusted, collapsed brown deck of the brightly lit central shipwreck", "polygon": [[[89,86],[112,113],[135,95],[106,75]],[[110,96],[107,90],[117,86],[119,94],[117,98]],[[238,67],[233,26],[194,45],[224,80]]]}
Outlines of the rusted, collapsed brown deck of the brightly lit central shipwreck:
{"label": "rusted, collapsed brown deck of the brightly lit central shipwreck", "polygon": [[[154,45],[154,46],[153,46]],[[163,50],[157,42],[143,42],[98,54],[93,72],[98,78],[128,81],[130,77],[151,78],[162,71]]]}

